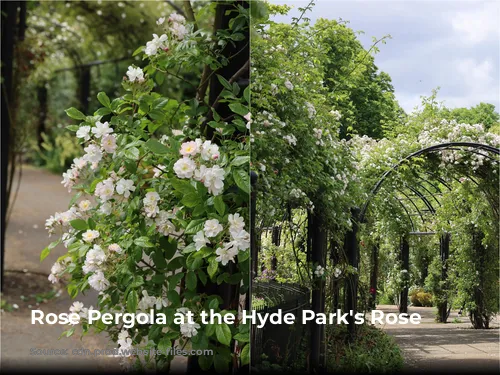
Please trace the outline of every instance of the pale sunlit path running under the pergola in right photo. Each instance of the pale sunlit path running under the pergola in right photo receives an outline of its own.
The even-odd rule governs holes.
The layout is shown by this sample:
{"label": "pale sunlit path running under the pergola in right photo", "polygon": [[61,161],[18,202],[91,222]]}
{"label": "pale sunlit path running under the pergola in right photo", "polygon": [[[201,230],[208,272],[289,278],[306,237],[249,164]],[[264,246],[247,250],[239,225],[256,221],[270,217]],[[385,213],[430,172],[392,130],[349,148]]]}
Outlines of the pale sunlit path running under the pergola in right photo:
{"label": "pale sunlit path running under the pergola in right photo", "polygon": [[[380,305],[377,310],[396,313],[397,307]],[[432,307],[413,307],[409,313],[419,313],[422,323],[383,326],[402,349],[406,370],[455,373],[500,370],[498,316],[493,329],[475,330],[469,319],[459,317],[456,311],[448,319],[455,323],[447,324],[435,323]]]}

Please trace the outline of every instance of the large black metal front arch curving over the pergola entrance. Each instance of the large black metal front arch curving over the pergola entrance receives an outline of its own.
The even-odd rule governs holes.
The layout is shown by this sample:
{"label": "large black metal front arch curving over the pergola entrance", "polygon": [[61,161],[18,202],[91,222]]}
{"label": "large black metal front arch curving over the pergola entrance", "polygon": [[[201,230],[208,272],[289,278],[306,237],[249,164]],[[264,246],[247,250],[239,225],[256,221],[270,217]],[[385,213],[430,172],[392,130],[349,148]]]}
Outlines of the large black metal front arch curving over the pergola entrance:
{"label": "large black metal front arch curving over the pergola entrance", "polygon": [[[468,150],[467,148],[472,148],[472,150]],[[453,151],[460,150],[460,151],[467,151],[467,152],[474,153],[474,154],[478,154],[478,151],[476,151],[476,150],[482,150],[482,151],[485,151],[486,153],[500,155],[500,149],[493,147],[493,146],[490,146],[490,145],[486,145],[486,144],[482,144],[482,143],[474,143],[474,142],[441,143],[438,145],[426,147],[426,148],[423,148],[419,151],[416,151],[416,152],[406,156],[405,158],[401,159],[399,162],[394,164],[389,170],[384,172],[384,174],[382,175],[380,180],[377,181],[377,183],[374,185],[374,187],[370,191],[370,194],[369,194],[369,196],[368,196],[368,198],[367,198],[365,204],[363,205],[363,208],[361,209],[361,212],[359,214],[359,222],[363,223],[365,221],[365,216],[366,216],[366,212],[368,210],[368,206],[370,205],[370,202],[373,199],[373,197],[378,193],[378,191],[382,187],[382,184],[384,183],[384,181],[387,179],[387,177],[389,177],[389,175],[391,175],[394,171],[396,171],[403,163],[405,163],[406,161],[408,161],[414,157],[420,156],[420,155],[425,155],[425,154],[429,154],[432,152],[439,152],[439,151],[445,151],[445,150],[453,150]],[[486,156],[486,154],[483,154],[483,153],[479,153],[479,154]],[[497,159],[494,159],[492,157],[488,156],[488,158],[492,161],[499,162]],[[442,178],[439,178],[439,182],[443,183],[441,180],[442,180]],[[448,189],[450,189],[450,187],[447,184],[444,184],[444,186],[446,186]],[[425,190],[427,190],[427,189],[425,189]],[[413,191],[413,192],[415,193],[415,191]],[[421,199],[422,198],[425,199],[425,197],[423,197],[421,195],[421,193],[418,193],[418,194],[416,193],[416,195],[419,196],[419,198],[421,198]],[[429,207],[428,203],[430,203],[430,202],[428,202],[426,199],[425,200],[424,199],[422,199],[424,201],[424,204],[427,207]],[[431,212],[432,211],[433,211],[433,209],[431,209]]]}

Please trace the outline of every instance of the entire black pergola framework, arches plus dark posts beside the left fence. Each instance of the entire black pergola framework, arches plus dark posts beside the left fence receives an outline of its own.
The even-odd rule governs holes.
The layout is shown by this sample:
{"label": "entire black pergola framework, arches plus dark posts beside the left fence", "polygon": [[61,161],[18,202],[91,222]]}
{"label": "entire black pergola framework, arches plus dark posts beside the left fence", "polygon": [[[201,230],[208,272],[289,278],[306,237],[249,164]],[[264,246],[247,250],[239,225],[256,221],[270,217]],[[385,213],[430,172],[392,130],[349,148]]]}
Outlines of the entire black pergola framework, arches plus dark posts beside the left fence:
{"label": "entire black pergola framework, arches plus dark posts beside the left fence", "polygon": [[[398,163],[387,170],[382,177],[375,183],[371,189],[367,201],[364,206],[359,208],[353,208],[351,210],[351,221],[352,227],[348,231],[344,238],[340,240],[343,246],[340,247],[339,244],[335,243],[331,238],[331,234],[336,232],[336,228],[325,228],[325,220],[321,212],[321,208],[315,209],[314,212],[309,212],[307,214],[306,221],[306,238],[304,240],[304,246],[300,251],[305,253],[307,263],[312,263],[314,265],[320,265],[325,267],[327,264],[327,258],[330,257],[334,264],[345,262],[347,265],[354,267],[359,270],[360,264],[360,249],[359,249],[359,239],[358,235],[360,232],[360,227],[369,224],[369,220],[373,219],[373,212],[370,210],[370,204],[377,197],[384,197],[391,200],[395,205],[400,207],[402,212],[405,213],[409,225],[409,230],[401,235],[399,249],[400,249],[400,261],[403,268],[408,270],[410,267],[410,241],[412,236],[435,236],[438,235],[437,231],[431,225],[431,218],[436,214],[436,210],[441,205],[441,197],[444,194],[450,193],[453,190],[453,183],[458,181],[461,176],[467,176],[472,183],[478,188],[482,189],[481,179],[487,178],[487,176],[476,176],[472,174],[472,171],[457,171],[456,175],[452,173],[440,173],[431,168],[419,168],[418,170],[412,172],[413,178],[410,181],[400,180],[396,184],[396,188],[388,186],[388,181],[392,176],[397,176],[398,169],[405,164],[410,163],[414,158],[433,158],[436,154],[446,151],[466,151],[471,154],[481,154],[484,155],[487,160],[498,164],[498,156],[500,155],[500,150],[489,145],[478,144],[478,143],[467,143],[467,142],[456,142],[456,143],[445,143],[428,148],[424,148],[415,153],[408,155],[407,157],[401,159]],[[410,168],[411,169],[411,168]],[[449,172],[449,171],[448,171]],[[458,177],[457,177],[458,176]],[[251,241],[252,241],[252,278],[255,277],[259,272],[259,252],[260,252],[260,236],[262,232],[267,232],[271,238],[270,243],[273,245],[280,245],[280,234],[277,233],[284,228],[278,228],[278,224],[267,223],[266,225],[260,227],[256,223],[256,189],[255,186],[258,183],[257,175],[252,174],[252,207],[251,207]],[[498,208],[495,206],[495,196],[497,193],[492,193],[490,191],[484,191],[484,195],[490,202],[490,206],[496,217],[498,217]],[[498,198],[497,198],[498,199]],[[288,214],[290,215],[290,214]],[[283,223],[288,220],[288,217],[283,218]],[[440,259],[443,264],[446,264],[446,260],[450,253],[450,241],[452,240],[450,235],[447,233],[442,233],[440,235]],[[282,239],[283,241],[283,239]],[[330,241],[330,242],[329,242]],[[282,244],[281,244],[282,245]],[[377,274],[378,274],[378,262],[379,262],[379,247],[375,243],[371,249],[371,270],[370,270],[370,294],[372,302],[375,301],[377,293]],[[275,268],[276,265],[271,263],[271,268]],[[442,269],[441,278],[445,280],[447,277],[447,269],[444,267]],[[331,297],[332,310],[340,307],[342,311],[349,312],[353,311],[352,315],[348,316],[349,324],[348,330],[350,332],[350,337],[354,338],[356,334],[356,325],[354,324],[354,315],[359,310],[358,309],[358,296],[360,290],[358,288],[359,283],[359,272],[347,273],[344,280],[335,281],[335,286],[332,290],[334,296],[326,296],[327,285],[322,279],[313,280],[315,287],[311,292],[311,310],[316,314],[324,313],[326,310],[327,299]],[[338,284],[338,285],[337,285]],[[343,286],[343,296],[340,295],[339,290]],[[343,297],[343,298],[342,298]],[[407,311],[407,297],[408,288],[401,290],[401,304],[400,309],[402,312]],[[343,300],[342,300],[343,299]],[[440,316],[443,321],[446,320],[447,316],[447,304],[444,303],[439,307]],[[310,326],[311,340],[310,340],[310,363],[313,368],[320,369],[325,363],[325,332],[324,325],[311,324]]]}

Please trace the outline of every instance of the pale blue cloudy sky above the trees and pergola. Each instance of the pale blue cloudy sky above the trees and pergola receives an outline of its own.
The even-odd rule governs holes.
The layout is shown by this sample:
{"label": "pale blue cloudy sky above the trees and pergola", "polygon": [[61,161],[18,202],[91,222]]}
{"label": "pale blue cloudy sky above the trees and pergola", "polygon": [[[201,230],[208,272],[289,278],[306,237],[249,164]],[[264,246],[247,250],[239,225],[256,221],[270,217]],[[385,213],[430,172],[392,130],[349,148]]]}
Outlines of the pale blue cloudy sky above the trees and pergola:
{"label": "pale blue cloudy sky above the trees and pergola", "polygon": [[[271,0],[294,8],[276,22],[290,22],[309,1]],[[471,107],[486,102],[500,107],[500,1],[316,0],[318,18],[349,21],[366,49],[372,37],[390,34],[379,45],[375,65],[388,73],[399,104],[410,112],[440,87],[445,106]]]}

